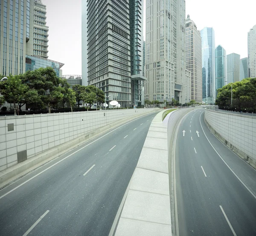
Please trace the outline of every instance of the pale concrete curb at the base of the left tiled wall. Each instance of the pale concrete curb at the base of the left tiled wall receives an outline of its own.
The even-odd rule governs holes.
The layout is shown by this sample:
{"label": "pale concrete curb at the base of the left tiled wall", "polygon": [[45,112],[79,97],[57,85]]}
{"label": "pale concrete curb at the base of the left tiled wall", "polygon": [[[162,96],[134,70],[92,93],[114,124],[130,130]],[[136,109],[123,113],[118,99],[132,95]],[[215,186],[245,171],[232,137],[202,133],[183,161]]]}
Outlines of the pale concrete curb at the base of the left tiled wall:
{"label": "pale concrete curb at the base of the left tiled wall", "polygon": [[143,117],[145,115],[152,114],[157,110],[159,109],[155,109],[154,111],[151,111],[151,112],[140,113],[138,115],[134,115],[133,117],[122,119],[117,123],[114,122],[105,127],[101,127],[99,129],[93,130],[91,132],[88,132],[86,135],[82,135],[78,138],[73,139],[72,141],[53,147],[47,150],[46,152],[40,153],[39,155],[36,155],[13,167],[10,167],[8,169],[1,171],[0,172],[0,189],[10,184],[11,182],[15,181],[16,179],[26,175],[30,171],[35,170],[41,165],[47,163],[48,161],[51,161],[52,159],[57,158],[63,155],[64,153],[67,153],[73,148],[80,146],[84,142],[90,141],[92,138],[95,138],[96,136],[101,135],[102,133],[108,130],[118,127],[119,125],[125,124],[126,122],[132,121],[136,118]]}

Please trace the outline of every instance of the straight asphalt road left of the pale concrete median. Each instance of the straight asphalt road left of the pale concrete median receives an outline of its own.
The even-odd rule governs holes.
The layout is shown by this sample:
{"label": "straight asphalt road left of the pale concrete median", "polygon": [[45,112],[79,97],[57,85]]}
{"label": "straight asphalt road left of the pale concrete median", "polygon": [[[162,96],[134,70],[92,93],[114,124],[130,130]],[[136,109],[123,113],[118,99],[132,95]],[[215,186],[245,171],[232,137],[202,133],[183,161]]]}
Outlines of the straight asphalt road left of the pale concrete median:
{"label": "straight asphalt road left of the pale concrete median", "polygon": [[2,189],[0,235],[108,235],[155,115],[107,132]]}

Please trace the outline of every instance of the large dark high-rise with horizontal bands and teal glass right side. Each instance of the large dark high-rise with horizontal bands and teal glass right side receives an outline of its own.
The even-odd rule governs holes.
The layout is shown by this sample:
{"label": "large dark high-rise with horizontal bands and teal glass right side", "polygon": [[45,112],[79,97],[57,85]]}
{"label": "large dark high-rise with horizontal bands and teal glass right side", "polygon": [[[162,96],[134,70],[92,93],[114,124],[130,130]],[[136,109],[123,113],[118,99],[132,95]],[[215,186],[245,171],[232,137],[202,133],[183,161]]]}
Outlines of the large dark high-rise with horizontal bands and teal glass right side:
{"label": "large dark high-rise with horizontal bands and teal glass right side", "polygon": [[143,1],[88,0],[82,8],[82,84],[102,89],[107,103],[139,106],[144,80]]}

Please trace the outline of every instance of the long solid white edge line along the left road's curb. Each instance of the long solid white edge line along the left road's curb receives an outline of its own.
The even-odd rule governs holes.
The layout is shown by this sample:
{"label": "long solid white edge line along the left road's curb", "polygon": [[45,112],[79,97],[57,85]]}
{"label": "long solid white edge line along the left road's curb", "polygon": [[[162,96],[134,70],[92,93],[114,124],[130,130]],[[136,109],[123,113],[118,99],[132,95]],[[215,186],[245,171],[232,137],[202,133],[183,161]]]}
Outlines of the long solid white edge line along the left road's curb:
{"label": "long solid white edge line along the left road's curb", "polygon": [[[149,114],[149,115],[151,115],[151,114]],[[145,116],[146,116],[146,115],[145,115]],[[144,117],[144,116],[142,116],[142,117]],[[137,119],[135,119],[135,120],[129,121],[129,122],[125,123],[125,124],[122,124],[122,125],[119,126],[118,128],[116,128],[116,129],[114,129],[114,130],[111,130],[110,132],[106,133],[105,135],[103,135],[103,136],[101,136],[101,137],[95,139],[95,140],[92,141],[90,144],[93,144],[94,142],[96,142],[96,141],[98,141],[99,139],[105,137],[106,135],[108,135],[108,134],[114,132],[115,130],[118,130],[118,129],[120,129],[121,127],[123,127],[123,126],[125,126],[125,125],[127,125],[127,124],[129,124],[129,123],[131,123],[131,122],[133,122],[133,121],[136,121],[136,120],[138,120],[138,119],[140,119],[140,118],[142,118],[142,117],[139,117],[139,118],[137,118]],[[154,117],[153,117],[152,119],[154,119]],[[135,128],[134,130],[136,130],[136,128]],[[36,174],[35,176],[29,178],[28,180],[26,180],[26,181],[23,182],[22,184],[18,185],[18,186],[15,187],[14,189],[12,189],[12,190],[10,190],[9,192],[5,193],[3,196],[0,196],[0,199],[3,198],[3,197],[5,197],[5,196],[8,195],[9,193],[12,193],[12,191],[14,191],[14,190],[16,190],[17,188],[21,187],[23,184],[26,184],[28,181],[32,180],[33,178],[35,178],[35,177],[41,175],[41,174],[44,173],[45,171],[47,171],[47,170],[49,170],[50,168],[54,167],[55,165],[59,164],[61,161],[64,161],[65,159],[69,158],[70,156],[74,155],[75,153],[81,151],[82,149],[84,149],[85,147],[89,146],[90,144],[87,144],[87,145],[85,145],[84,147],[81,147],[79,150],[76,150],[75,152],[71,153],[70,155],[66,156],[65,158],[61,159],[60,161],[57,161],[55,164],[53,164],[53,165],[47,167],[45,170],[42,170],[40,173]]]}

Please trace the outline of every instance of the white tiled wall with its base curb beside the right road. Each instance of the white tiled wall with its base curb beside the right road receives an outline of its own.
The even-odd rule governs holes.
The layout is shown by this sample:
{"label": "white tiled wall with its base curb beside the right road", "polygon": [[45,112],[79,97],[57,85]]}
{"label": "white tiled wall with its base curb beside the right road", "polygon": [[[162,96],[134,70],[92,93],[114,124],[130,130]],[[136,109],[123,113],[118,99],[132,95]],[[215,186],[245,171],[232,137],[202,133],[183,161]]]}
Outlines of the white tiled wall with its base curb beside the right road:
{"label": "white tiled wall with its base curb beside the right road", "polygon": [[256,168],[256,117],[205,109],[204,119],[227,147]]}

